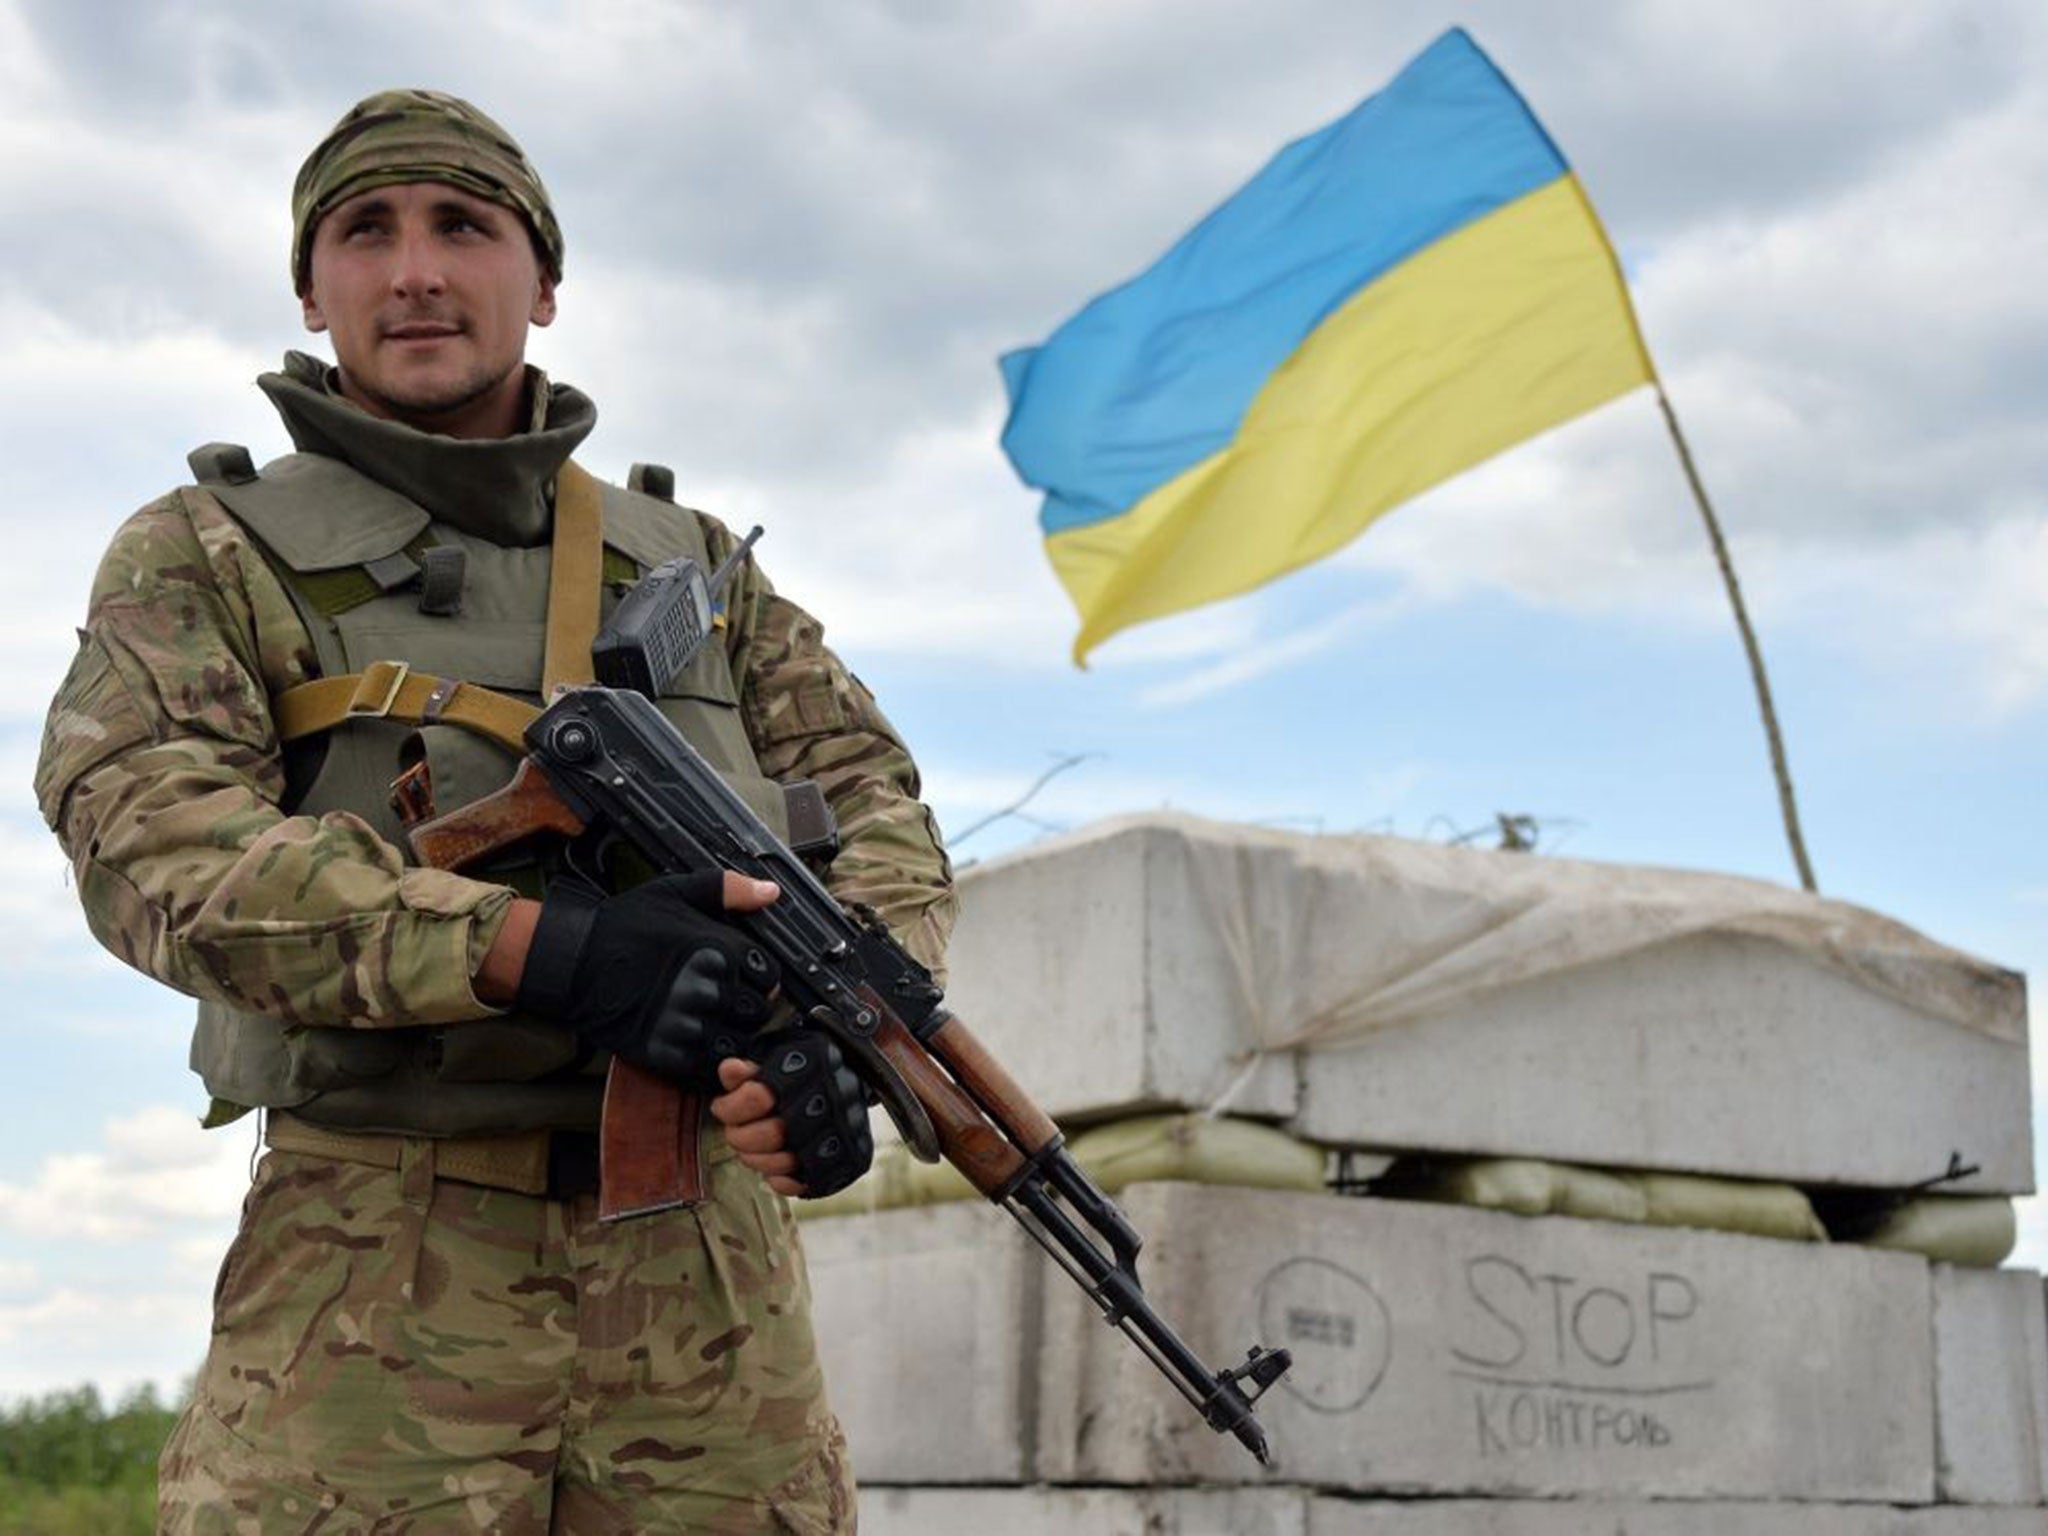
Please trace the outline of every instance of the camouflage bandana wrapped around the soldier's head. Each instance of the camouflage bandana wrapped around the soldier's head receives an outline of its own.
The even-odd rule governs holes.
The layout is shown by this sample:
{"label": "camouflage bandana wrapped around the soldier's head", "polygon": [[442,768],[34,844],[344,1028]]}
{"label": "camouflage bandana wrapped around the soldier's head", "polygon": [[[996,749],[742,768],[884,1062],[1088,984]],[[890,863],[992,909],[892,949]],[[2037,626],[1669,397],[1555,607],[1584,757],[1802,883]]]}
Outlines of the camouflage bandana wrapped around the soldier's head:
{"label": "camouflage bandana wrapped around the soldier's head", "polygon": [[291,188],[291,283],[305,293],[313,227],[344,199],[373,186],[449,182],[518,213],[547,274],[561,281],[561,225],[547,188],[512,135],[440,90],[365,96],[299,166]]}

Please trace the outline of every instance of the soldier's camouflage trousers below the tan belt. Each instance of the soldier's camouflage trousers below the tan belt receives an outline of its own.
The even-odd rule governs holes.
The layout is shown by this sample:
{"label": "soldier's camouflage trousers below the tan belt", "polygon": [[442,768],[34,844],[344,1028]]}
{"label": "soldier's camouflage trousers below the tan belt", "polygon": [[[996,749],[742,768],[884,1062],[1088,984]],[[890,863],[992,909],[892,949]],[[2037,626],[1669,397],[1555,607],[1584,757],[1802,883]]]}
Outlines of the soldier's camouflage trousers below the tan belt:
{"label": "soldier's camouflage trousers below the tan belt", "polygon": [[723,1139],[700,1208],[618,1225],[422,1149],[264,1157],[160,1532],[854,1530],[797,1223]]}

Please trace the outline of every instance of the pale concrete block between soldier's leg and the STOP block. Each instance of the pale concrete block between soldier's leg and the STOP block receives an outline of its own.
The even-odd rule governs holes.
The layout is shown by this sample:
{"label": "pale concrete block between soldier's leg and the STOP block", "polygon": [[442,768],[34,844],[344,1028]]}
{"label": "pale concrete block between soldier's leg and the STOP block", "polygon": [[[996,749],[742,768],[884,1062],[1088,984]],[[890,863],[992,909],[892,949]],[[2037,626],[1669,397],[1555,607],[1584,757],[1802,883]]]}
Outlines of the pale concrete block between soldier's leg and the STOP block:
{"label": "pale concrete block between soldier's leg and the STOP block", "polygon": [[1028,1481],[1047,1260],[1018,1225],[987,1202],[915,1206],[807,1221],[803,1249],[854,1475]]}

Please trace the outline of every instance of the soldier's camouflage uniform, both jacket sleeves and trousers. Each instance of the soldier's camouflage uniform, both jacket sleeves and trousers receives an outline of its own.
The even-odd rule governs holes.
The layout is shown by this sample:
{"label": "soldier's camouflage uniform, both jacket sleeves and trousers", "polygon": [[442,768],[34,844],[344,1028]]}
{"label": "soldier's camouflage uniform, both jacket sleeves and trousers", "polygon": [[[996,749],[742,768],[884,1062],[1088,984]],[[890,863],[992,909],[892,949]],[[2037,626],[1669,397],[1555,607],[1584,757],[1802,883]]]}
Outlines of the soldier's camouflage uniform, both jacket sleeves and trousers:
{"label": "soldier's camouflage uniform, both jacket sleeves and trousers", "polygon": [[[723,557],[731,532],[702,524]],[[293,1024],[492,1014],[471,977],[510,889],[281,809],[270,698],[315,649],[215,496],[123,524],[80,637],[37,797],[109,948]],[[752,563],[725,647],[762,770],[834,805],[834,891],[936,967],[950,870],[901,739]],[[795,1225],[723,1139],[705,1206],[606,1227],[588,1194],[483,1188],[436,1176],[432,1141],[389,1145],[385,1165],[266,1155],[164,1456],[166,1530],[852,1530]]]}

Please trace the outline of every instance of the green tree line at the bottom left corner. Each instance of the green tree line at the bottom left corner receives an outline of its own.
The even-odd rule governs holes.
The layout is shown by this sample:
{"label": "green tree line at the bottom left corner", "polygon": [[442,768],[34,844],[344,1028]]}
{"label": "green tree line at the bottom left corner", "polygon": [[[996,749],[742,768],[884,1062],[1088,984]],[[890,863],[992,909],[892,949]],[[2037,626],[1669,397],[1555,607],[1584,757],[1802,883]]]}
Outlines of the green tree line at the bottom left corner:
{"label": "green tree line at the bottom left corner", "polygon": [[0,1407],[0,1536],[147,1536],[178,1411],[154,1386],[111,1409],[94,1386]]}

